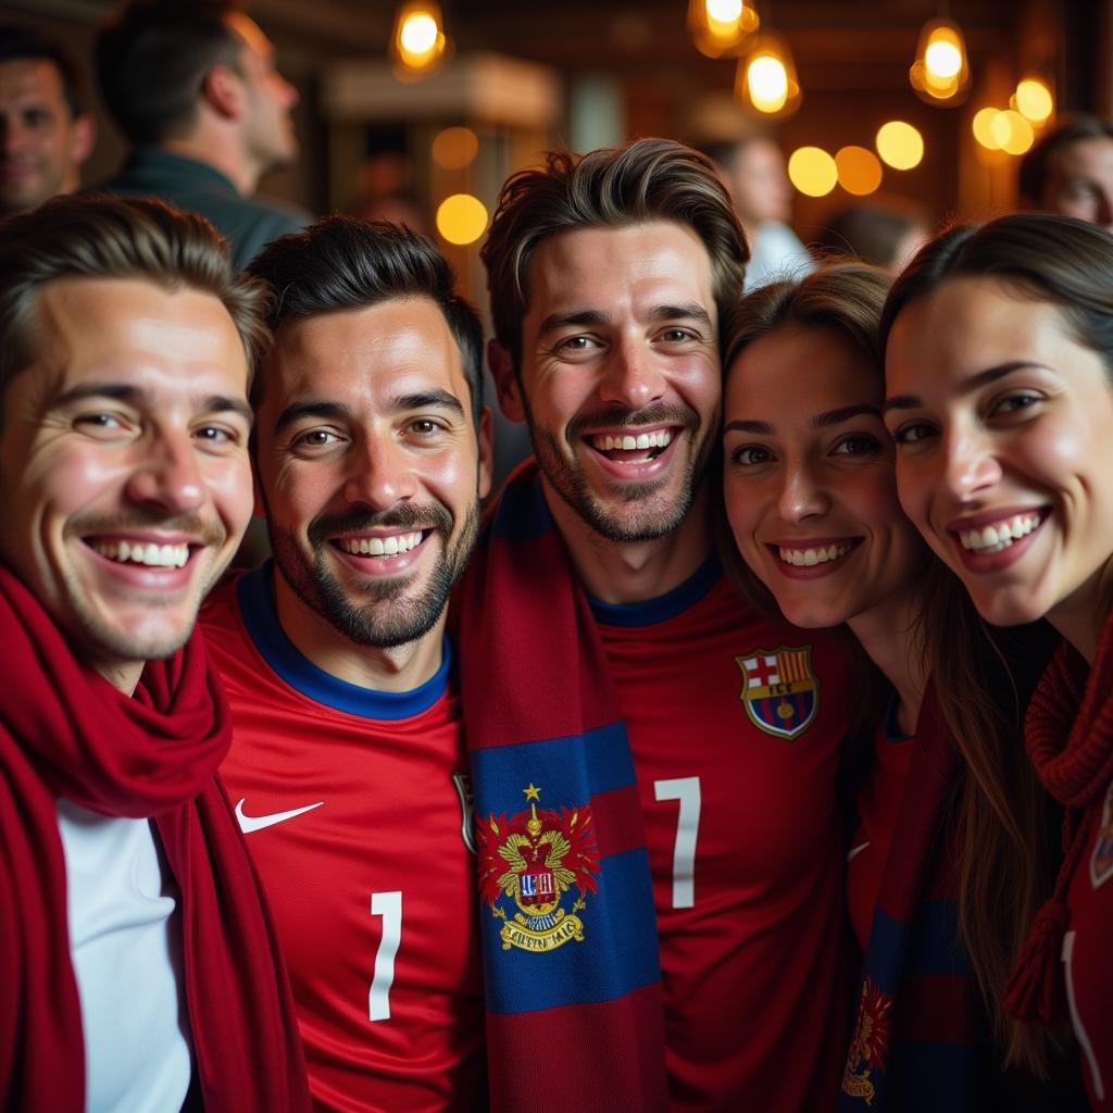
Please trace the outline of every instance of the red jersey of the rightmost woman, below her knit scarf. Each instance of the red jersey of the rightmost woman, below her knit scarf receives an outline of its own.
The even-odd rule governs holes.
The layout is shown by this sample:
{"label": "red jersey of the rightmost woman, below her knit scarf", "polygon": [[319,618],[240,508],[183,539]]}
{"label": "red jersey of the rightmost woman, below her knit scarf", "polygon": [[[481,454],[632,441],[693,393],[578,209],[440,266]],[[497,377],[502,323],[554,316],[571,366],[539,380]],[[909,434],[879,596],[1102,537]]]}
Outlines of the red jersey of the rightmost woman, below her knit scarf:
{"label": "red jersey of the rightmost woman, below her knit scarf", "polygon": [[1113,781],[1086,818],[1066,903],[1063,974],[1082,1076],[1095,1110],[1113,1111]]}

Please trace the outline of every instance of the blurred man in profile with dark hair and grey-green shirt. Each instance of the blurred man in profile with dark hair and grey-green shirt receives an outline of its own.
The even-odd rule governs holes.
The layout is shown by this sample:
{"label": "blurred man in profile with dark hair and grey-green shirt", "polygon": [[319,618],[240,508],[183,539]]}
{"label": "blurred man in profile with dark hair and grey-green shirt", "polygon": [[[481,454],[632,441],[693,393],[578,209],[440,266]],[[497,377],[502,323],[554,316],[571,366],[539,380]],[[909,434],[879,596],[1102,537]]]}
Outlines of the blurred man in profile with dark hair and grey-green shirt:
{"label": "blurred man in profile with dark hair and grey-green shirt", "polygon": [[132,142],[104,187],[200,213],[224,233],[237,267],[307,214],[254,199],[259,178],[297,157],[297,91],[274,46],[229,3],[135,0],[101,28],[97,79]]}

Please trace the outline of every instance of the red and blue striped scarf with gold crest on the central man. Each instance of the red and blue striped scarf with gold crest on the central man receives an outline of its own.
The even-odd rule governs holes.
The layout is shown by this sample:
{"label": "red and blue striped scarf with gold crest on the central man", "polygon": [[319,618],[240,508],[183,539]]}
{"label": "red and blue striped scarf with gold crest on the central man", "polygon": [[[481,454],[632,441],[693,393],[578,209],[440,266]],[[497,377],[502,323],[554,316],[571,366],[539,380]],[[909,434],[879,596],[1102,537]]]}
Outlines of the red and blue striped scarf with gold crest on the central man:
{"label": "red and blue striped scarf with gold crest on the central man", "polygon": [[453,607],[491,1107],[664,1110],[657,924],[630,745],[534,464],[489,514]]}

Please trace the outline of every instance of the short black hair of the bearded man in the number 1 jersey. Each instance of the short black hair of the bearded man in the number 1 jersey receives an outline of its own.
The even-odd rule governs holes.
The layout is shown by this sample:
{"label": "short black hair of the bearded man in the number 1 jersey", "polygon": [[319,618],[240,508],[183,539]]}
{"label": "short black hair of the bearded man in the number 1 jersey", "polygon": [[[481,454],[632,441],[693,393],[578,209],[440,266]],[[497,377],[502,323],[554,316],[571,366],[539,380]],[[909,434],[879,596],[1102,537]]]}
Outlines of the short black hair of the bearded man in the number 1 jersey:
{"label": "short black hair of the bearded man in the number 1 jersey", "polygon": [[[395,297],[427,297],[444,314],[460,348],[464,378],[479,429],[483,412],[483,326],[455,292],[445,257],[424,236],[386,221],[323,217],[303,232],[282,236],[255,259],[249,273],[272,290],[267,323],[277,332],[287,321],[362,309]],[[256,380],[258,406],[265,375]]]}

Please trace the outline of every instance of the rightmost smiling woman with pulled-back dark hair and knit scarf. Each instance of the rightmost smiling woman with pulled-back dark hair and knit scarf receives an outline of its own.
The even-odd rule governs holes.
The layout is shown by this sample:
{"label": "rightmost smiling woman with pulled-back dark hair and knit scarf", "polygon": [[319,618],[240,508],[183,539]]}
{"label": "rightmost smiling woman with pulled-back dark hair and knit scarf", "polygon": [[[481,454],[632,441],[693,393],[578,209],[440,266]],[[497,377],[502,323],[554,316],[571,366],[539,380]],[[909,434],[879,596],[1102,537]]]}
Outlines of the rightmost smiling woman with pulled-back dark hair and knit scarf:
{"label": "rightmost smiling woman with pulled-back dark hair and knit scarf", "polygon": [[908,515],[983,618],[1046,617],[1064,639],[1024,731],[1066,808],[1064,860],[1006,1004],[1070,1018],[1091,1103],[1110,1110],[1113,238],[1036,214],[954,229],[894,287],[883,337]]}

